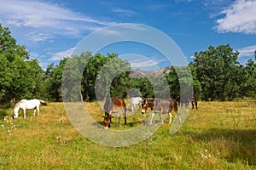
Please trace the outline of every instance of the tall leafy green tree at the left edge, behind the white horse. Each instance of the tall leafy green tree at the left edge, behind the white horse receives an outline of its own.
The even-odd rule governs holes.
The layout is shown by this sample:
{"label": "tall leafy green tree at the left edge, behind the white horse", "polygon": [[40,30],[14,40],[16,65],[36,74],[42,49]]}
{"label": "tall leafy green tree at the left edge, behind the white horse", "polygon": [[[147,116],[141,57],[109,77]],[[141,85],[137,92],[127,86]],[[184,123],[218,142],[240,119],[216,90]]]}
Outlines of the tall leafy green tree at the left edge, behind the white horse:
{"label": "tall leafy green tree at the left edge, behind the white horse", "polygon": [[29,59],[26,48],[0,25],[0,101],[40,96],[42,74],[38,60]]}

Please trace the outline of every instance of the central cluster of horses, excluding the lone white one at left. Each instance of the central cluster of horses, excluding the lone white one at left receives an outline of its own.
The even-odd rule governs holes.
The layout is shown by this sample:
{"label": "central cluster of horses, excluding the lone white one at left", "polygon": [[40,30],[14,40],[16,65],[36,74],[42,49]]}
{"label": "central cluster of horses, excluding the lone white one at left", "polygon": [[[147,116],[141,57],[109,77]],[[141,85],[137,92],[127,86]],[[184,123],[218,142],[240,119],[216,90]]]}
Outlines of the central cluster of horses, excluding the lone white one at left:
{"label": "central cluster of horses, excluding the lone white one at left", "polygon": [[[183,98],[182,98],[183,99]],[[178,120],[181,123],[181,117],[179,116],[177,112],[177,107],[189,107],[189,103],[192,104],[192,109],[197,109],[197,100],[195,96],[192,96],[192,99],[185,98],[181,100],[180,96],[177,96],[176,99],[158,99],[158,98],[150,98],[150,99],[142,99],[141,97],[132,97],[130,99],[131,103],[131,111],[133,112],[136,105],[139,105],[142,114],[144,114],[147,109],[149,108],[151,110],[151,116],[149,117],[149,124],[152,124],[153,117],[155,114],[159,114],[160,116],[160,122],[163,123],[162,114],[168,113],[169,115],[169,124],[172,122],[172,114],[171,112],[174,111],[176,115],[178,116]],[[119,112],[122,112],[124,118],[125,118],[125,124],[126,124],[126,105],[124,99],[120,97],[108,97],[104,104],[104,111],[105,115],[104,117],[104,124],[105,128],[108,129],[108,127],[111,127],[111,118],[112,118],[112,112],[117,111],[118,112],[118,122],[120,123],[120,115]]]}

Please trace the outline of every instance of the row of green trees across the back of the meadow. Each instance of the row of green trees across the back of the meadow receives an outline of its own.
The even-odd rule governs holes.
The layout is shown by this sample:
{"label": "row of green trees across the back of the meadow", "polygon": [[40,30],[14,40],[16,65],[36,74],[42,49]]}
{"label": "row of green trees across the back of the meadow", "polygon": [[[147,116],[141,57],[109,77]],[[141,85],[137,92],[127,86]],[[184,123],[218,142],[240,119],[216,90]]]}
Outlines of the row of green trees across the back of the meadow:
{"label": "row of green trees across the back of the meadow", "polygon": [[[188,67],[193,77],[194,94],[199,99],[231,100],[255,97],[256,50],[255,59],[249,59],[245,65],[238,62],[238,54],[230,44],[219,45],[216,48],[210,46],[204,51],[195,52],[194,59]],[[120,97],[128,95],[154,97],[155,91],[166,92],[160,89],[162,88],[160,86],[157,88],[157,82],[162,81],[157,75],[152,76],[151,80],[148,77],[131,77],[131,65],[120,59],[118,54],[92,55],[86,51],[79,56],[63,57],[65,58],[61,59],[58,65],[52,63],[43,70],[38,59],[31,59],[26,48],[17,44],[15,38],[11,36],[9,28],[0,24],[1,104],[9,103],[14,99],[38,98],[61,101],[61,90],[79,90],[81,97],[88,101],[103,99],[107,92]],[[67,67],[70,67],[67,74],[69,78],[79,77],[80,82],[64,84],[65,88],[63,88],[65,77],[62,75]],[[83,71],[79,71],[81,68]],[[184,70],[170,66],[170,69],[164,72],[168,82],[166,88],[172,89],[170,93],[173,98],[180,93],[179,82],[187,81],[185,78],[182,80],[177,77],[178,69]],[[102,73],[99,74],[101,71]],[[111,75],[113,72],[116,75]],[[186,71],[183,74],[187,74]],[[102,83],[96,83],[99,80]],[[153,88],[152,81],[156,82],[156,88]]]}

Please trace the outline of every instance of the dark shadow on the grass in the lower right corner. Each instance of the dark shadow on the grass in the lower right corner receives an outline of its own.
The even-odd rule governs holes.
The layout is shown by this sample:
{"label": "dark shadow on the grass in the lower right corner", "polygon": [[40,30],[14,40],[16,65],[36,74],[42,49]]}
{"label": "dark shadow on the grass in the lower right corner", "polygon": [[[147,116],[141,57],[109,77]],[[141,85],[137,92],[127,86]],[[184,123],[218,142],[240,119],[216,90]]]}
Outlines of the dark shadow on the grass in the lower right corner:
{"label": "dark shadow on the grass in the lower right corner", "polygon": [[205,132],[187,132],[195,141],[206,143],[218,155],[227,161],[243,161],[250,166],[256,166],[256,129],[218,129],[212,128]]}

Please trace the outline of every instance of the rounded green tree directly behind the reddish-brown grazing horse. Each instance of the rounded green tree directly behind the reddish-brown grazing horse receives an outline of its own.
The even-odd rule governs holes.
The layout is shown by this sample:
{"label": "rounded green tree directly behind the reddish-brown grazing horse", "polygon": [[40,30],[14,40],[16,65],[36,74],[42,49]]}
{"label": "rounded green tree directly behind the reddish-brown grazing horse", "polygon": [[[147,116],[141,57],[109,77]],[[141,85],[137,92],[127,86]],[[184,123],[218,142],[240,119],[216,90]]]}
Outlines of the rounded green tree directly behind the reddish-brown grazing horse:
{"label": "rounded green tree directly behind the reddish-brown grazing horse", "polygon": [[[109,94],[126,97],[127,90],[131,85],[131,79],[129,78],[131,65],[127,61],[119,59],[118,54],[108,54],[102,60],[103,62],[100,62],[100,65],[99,63],[94,64],[95,60],[90,59],[90,62],[93,61],[92,65],[97,65],[97,68],[92,70],[95,77],[91,78],[92,88],[95,88],[97,99],[104,99]],[[92,68],[88,67],[90,71]],[[84,77],[88,76],[84,75]],[[92,96],[91,99],[96,99],[96,97]]]}

